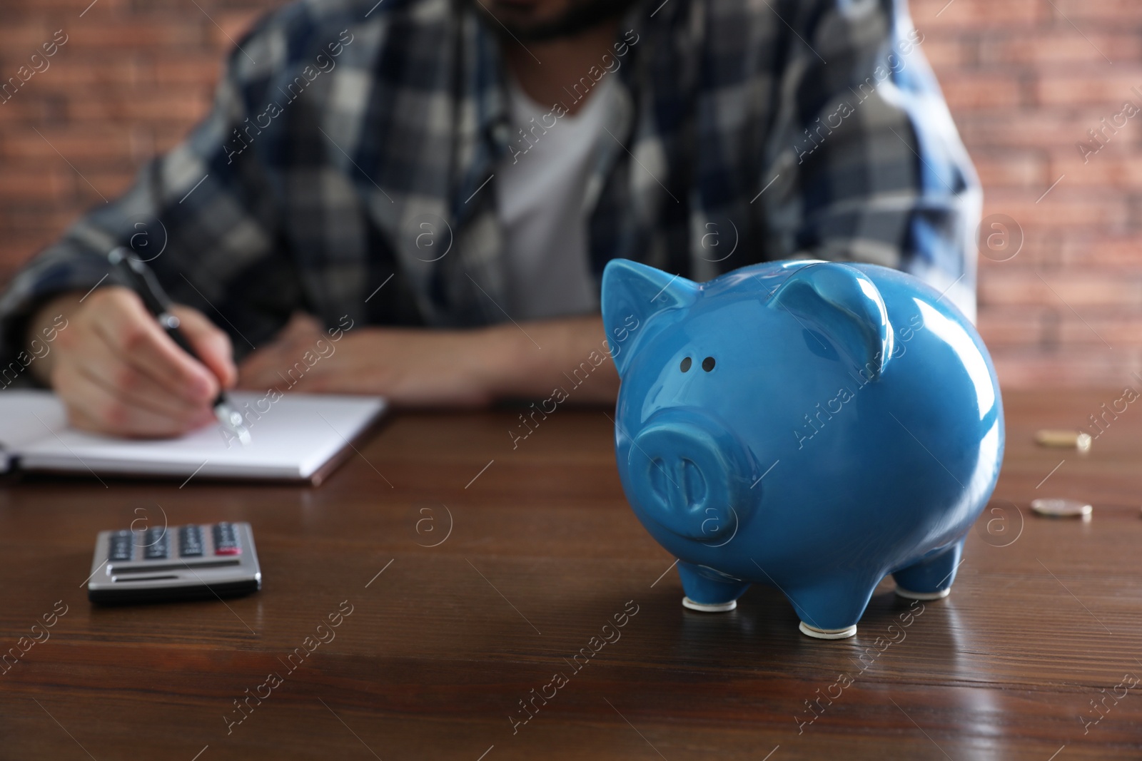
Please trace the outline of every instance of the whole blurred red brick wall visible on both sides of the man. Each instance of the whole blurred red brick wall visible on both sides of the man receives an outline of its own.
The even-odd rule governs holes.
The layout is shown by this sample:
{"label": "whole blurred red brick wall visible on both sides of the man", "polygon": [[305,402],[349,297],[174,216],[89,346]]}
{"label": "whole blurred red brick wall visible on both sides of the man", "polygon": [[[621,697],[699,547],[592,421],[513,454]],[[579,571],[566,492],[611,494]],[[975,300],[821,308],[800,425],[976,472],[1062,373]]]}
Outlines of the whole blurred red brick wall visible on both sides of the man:
{"label": "whole blurred red brick wall visible on both sides of the man", "polygon": [[[0,282],[174,145],[208,108],[230,38],[279,5],[88,2],[0,3],[0,80],[66,35],[0,105]],[[1142,114],[1112,120],[1127,99],[1142,107],[1131,89],[1142,91],[1142,2],[912,0],[912,16],[986,187],[979,325],[1000,380],[1133,382]],[[1103,129],[1105,145],[1088,129]]]}

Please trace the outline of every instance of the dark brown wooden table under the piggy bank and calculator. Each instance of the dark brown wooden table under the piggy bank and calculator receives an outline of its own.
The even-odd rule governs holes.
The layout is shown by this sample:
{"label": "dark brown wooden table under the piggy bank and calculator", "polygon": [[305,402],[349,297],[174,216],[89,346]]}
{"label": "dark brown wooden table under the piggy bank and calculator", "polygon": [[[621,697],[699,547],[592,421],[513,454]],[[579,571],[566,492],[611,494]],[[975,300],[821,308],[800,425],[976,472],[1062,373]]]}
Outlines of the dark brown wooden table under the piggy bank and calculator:
{"label": "dark brown wooden table under the piggy bank and calculator", "polygon": [[[1086,456],[1032,443],[1120,396],[1008,394],[998,511],[951,597],[909,618],[885,583],[838,642],[764,588],[683,609],[600,408],[515,450],[514,411],[402,414],[319,488],[8,483],[0,646],[66,613],[0,673],[0,758],[1137,759],[1142,402]],[[1089,500],[1093,520],[1036,517],[1040,495]],[[96,532],[163,515],[249,520],[263,591],[89,605]]]}

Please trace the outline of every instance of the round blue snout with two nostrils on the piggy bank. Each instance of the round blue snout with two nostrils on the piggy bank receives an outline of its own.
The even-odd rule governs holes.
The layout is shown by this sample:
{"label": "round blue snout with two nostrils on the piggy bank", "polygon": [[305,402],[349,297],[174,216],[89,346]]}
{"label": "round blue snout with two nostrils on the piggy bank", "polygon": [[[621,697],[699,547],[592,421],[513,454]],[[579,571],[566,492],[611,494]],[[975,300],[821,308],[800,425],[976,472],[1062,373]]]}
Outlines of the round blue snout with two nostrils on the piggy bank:
{"label": "round blue snout with two nostrils on the piggy bank", "polygon": [[628,473],[648,518],[681,536],[717,540],[743,517],[740,459],[740,446],[707,426],[662,421],[635,436]]}

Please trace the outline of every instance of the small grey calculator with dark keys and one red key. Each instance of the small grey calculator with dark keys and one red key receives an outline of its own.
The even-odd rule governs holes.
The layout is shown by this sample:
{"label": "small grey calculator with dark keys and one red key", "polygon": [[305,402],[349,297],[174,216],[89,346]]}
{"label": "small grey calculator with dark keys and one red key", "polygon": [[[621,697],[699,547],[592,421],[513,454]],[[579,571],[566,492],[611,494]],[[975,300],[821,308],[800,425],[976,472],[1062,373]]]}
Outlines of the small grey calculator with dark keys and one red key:
{"label": "small grey calculator with dark keys and one red key", "polygon": [[217,523],[99,532],[87,597],[93,602],[154,602],[259,589],[262,568],[250,524]]}

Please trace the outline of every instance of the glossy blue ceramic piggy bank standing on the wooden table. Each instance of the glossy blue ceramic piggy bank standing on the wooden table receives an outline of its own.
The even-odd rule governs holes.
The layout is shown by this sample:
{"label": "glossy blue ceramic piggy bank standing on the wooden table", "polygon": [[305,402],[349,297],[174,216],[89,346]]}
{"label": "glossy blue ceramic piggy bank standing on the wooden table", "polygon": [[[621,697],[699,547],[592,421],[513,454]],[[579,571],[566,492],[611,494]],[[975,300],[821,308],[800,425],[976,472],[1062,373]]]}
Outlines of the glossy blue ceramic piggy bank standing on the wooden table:
{"label": "glossy blue ceramic piggy bank standing on the wooden table", "polygon": [[940,293],[875,265],[694,283],[616,259],[602,306],[619,476],[683,605],[731,610],[767,584],[802,632],[841,639],[887,574],[902,597],[948,594],[1004,419],[979,333]]}

